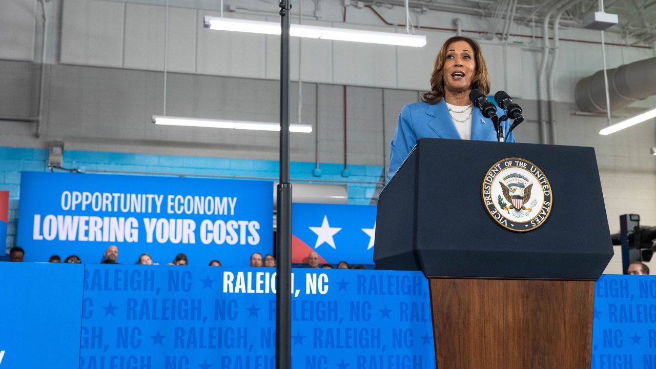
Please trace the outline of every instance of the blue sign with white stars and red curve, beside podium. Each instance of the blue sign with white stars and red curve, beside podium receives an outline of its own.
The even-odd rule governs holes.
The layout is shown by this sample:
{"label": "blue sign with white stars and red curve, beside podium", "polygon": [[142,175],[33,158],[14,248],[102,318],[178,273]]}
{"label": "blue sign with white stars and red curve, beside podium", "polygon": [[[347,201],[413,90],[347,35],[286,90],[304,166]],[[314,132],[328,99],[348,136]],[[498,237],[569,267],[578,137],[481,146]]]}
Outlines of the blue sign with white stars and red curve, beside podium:
{"label": "blue sign with white stars and red curve, beside podium", "polygon": [[375,206],[293,204],[291,214],[293,263],[316,251],[321,263],[373,265]]}

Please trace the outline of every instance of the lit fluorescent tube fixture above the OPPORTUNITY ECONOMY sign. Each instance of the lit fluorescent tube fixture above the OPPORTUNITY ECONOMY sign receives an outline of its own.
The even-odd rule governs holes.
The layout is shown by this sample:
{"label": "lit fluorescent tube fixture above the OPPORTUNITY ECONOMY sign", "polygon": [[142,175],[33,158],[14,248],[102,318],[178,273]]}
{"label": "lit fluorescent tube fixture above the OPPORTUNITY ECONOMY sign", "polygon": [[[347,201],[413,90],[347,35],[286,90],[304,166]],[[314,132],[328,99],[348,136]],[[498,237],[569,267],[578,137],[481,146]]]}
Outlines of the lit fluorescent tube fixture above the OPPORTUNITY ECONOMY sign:
{"label": "lit fluorescent tube fixture above the OPPORTUNITY ECONOMY sign", "polygon": [[[228,129],[254,129],[256,131],[280,131],[278,123],[268,123],[262,121],[238,121],[224,119],[200,119],[184,118],[170,116],[153,116],[153,123],[159,125],[184,125],[187,127],[209,127],[209,128],[228,128]],[[290,132],[310,133],[312,125],[310,124],[290,124]]]}

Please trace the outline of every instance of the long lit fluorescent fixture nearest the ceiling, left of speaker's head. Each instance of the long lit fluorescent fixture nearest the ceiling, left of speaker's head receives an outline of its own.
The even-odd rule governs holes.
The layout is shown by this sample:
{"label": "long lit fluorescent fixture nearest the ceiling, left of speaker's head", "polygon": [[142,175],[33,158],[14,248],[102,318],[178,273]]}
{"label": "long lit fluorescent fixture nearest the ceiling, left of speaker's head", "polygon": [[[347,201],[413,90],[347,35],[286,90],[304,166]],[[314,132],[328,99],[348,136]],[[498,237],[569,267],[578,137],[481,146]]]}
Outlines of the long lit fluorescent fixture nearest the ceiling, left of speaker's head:
{"label": "long lit fluorescent fixture nearest the ceiling, left of speaker's head", "polygon": [[[264,33],[279,35],[280,24],[276,22],[263,22],[260,20],[245,20],[235,18],[221,18],[218,16],[205,16],[205,27],[210,30]],[[380,43],[384,45],[424,47],[426,36],[407,35],[405,33],[377,32],[365,30],[349,30],[348,28],[333,28],[309,26],[306,24],[292,24],[289,35],[294,37],[308,37],[313,39],[330,39],[336,41],[355,41],[365,43]]]}

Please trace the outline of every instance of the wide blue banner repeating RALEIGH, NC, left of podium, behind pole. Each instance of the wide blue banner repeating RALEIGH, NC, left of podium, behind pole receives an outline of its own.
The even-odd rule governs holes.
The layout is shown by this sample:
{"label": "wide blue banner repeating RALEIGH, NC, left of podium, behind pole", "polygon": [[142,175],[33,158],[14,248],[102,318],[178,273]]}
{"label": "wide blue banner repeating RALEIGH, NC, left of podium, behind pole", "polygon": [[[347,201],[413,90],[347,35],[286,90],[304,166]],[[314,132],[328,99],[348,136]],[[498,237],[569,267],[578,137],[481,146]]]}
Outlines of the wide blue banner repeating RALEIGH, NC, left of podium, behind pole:
{"label": "wide blue banner repeating RALEIGH, NC, left of podium, behind pole", "polygon": [[[434,368],[419,272],[293,270],[293,368]],[[275,366],[276,270],[87,265],[80,368]]]}

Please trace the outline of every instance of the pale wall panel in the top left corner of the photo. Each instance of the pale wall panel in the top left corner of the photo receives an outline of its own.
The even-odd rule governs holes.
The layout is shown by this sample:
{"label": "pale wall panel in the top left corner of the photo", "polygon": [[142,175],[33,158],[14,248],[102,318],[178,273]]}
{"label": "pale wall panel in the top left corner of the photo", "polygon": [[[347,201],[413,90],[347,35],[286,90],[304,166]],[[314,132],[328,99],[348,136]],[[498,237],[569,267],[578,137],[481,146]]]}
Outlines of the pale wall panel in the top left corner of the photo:
{"label": "pale wall panel in the top left corner of the photo", "polygon": [[[34,58],[36,16],[35,0],[0,1],[0,45],[2,45],[0,58],[9,60]],[[41,20],[41,11],[38,12],[38,16]]]}

